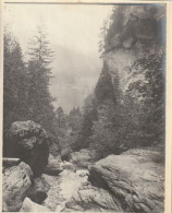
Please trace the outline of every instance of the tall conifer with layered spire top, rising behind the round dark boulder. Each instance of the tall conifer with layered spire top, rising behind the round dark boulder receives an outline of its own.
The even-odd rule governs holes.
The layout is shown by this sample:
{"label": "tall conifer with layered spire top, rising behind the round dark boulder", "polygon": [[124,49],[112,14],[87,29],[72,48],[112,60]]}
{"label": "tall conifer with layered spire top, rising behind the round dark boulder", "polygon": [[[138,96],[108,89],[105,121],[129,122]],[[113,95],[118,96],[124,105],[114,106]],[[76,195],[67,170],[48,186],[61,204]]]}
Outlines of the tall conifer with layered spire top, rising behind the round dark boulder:
{"label": "tall conifer with layered spire top, rising behind the round dark boulder", "polygon": [[[29,118],[53,131],[53,98],[49,93],[52,51],[44,26],[37,27],[37,34],[29,43],[28,60],[28,113]],[[56,130],[54,130],[56,131]]]}

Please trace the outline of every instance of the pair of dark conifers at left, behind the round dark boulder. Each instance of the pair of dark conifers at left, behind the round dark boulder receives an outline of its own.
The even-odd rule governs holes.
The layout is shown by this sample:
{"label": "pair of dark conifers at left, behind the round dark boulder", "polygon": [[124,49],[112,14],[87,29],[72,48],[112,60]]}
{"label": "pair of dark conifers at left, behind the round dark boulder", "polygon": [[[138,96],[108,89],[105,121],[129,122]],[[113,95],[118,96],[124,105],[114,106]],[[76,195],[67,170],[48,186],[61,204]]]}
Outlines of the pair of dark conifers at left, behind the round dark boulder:
{"label": "pair of dark conifers at left, behind the round dark boulder", "polygon": [[26,63],[19,42],[9,28],[4,29],[4,131],[14,121],[33,120],[56,134],[57,119],[49,93],[52,51],[44,31],[37,28]]}

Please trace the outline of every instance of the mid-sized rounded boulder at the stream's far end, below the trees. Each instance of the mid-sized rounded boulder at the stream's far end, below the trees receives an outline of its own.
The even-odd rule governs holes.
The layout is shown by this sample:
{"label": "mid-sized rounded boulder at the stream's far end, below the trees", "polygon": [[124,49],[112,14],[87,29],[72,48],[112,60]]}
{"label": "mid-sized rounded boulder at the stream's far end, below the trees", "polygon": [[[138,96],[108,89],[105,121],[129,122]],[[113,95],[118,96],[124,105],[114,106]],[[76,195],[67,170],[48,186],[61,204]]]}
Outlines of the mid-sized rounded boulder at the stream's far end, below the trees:
{"label": "mid-sized rounded boulder at the stream's far end, below the trees", "polygon": [[78,152],[71,153],[70,162],[75,164],[78,167],[87,167],[90,165],[96,158],[96,151],[83,149]]}

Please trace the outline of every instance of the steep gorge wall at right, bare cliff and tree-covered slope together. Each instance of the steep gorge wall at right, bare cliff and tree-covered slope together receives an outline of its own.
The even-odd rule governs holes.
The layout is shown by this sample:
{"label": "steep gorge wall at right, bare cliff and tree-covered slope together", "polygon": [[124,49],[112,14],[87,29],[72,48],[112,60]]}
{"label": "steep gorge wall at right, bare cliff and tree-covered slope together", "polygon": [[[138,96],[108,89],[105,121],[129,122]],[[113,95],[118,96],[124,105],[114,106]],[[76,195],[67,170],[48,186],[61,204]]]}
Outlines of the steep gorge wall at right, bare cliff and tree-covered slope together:
{"label": "steep gorge wall at right, bare cliff and tree-covered slope together", "polygon": [[101,34],[94,146],[109,154],[119,147],[164,147],[164,4],[118,5]]}

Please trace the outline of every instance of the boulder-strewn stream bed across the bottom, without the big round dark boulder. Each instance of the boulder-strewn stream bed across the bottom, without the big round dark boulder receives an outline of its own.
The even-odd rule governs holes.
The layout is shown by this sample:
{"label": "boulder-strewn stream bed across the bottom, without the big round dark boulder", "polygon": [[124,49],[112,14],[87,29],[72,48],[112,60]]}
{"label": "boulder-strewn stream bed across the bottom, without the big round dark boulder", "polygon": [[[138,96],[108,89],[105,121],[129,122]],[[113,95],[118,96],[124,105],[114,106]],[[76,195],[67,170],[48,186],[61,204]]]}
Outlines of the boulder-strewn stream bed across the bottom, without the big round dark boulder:
{"label": "boulder-strewn stream bed across the bottom, without the big round dark boulder", "polygon": [[164,165],[161,157],[162,153],[157,151],[130,150],[109,155],[88,169],[76,170],[72,163],[62,162],[58,175],[42,174],[36,178],[28,165],[19,162],[4,168],[3,209],[162,213]]}

